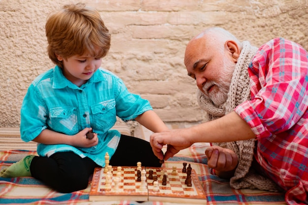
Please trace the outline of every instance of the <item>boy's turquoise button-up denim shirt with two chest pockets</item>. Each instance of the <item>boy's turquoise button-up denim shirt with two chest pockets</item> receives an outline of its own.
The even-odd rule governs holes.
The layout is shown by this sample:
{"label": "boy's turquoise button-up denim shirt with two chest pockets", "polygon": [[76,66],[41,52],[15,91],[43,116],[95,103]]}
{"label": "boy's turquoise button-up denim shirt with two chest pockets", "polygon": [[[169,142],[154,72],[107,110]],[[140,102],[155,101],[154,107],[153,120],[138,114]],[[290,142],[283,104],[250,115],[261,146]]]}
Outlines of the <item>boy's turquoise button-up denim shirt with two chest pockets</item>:
{"label": "boy's turquoise button-up denim shirt with two chest pockets", "polygon": [[36,77],[28,88],[21,107],[21,138],[29,142],[44,129],[74,135],[92,128],[98,136],[94,147],[38,144],[37,153],[50,156],[72,151],[104,167],[105,153],[111,157],[120,141],[120,132],[110,130],[116,116],[129,121],[152,109],[149,101],[129,93],[123,81],[105,69],[98,69],[87,83],[78,87],[56,66]]}

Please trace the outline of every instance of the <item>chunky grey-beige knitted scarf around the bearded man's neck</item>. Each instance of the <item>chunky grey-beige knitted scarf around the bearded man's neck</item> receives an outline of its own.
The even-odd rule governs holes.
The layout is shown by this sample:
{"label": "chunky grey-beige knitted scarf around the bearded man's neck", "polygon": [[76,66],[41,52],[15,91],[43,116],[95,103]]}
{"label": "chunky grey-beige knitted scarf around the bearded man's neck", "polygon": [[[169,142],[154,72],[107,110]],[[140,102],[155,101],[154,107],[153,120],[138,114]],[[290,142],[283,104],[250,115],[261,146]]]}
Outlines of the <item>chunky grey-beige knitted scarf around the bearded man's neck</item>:
{"label": "chunky grey-beige knitted scarf around the bearded man's neck", "polygon": [[[222,117],[233,111],[239,104],[250,100],[250,85],[247,68],[257,50],[258,48],[252,47],[248,41],[243,42],[243,49],[231,79],[228,98],[222,105],[216,106],[212,101],[206,99],[203,93],[198,89],[197,101],[200,107],[207,112],[208,121]],[[277,185],[272,180],[250,169],[253,160],[255,139],[213,144],[233,150],[238,155],[239,164],[234,176],[230,179],[230,186],[232,188],[257,188],[260,190],[277,191]]]}

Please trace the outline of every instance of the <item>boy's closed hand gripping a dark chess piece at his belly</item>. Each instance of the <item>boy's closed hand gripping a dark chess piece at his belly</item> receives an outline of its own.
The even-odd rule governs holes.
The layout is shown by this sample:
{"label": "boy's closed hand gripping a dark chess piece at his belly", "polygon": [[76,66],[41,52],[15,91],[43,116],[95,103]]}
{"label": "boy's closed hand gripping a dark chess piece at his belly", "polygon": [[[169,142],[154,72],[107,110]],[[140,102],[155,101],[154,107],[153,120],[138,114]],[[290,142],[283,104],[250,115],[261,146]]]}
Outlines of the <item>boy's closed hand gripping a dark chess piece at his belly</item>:
{"label": "boy's closed hand gripping a dark chess piece at his belly", "polygon": [[73,146],[74,147],[84,147],[84,148],[89,148],[89,147],[93,147],[95,145],[98,144],[98,138],[97,138],[97,134],[93,133],[94,136],[92,139],[88,139],[87,138],[87,133],[92,130],[92,128],[84,128],[83,130],[81,130],[80,132],[78,132],[77,134],[73,135],[72,137],[73,139]]}

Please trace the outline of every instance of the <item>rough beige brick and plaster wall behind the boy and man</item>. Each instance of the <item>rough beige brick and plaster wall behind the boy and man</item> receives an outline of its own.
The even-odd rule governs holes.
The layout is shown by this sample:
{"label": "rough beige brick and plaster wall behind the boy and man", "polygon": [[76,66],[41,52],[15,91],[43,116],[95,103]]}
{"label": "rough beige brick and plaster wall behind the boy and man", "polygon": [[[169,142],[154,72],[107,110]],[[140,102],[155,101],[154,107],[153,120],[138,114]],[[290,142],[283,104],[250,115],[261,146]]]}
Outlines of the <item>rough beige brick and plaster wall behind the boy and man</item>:
{"label": "rough beige brick and plaster wall behind the boy and man", "polygon": [[[0,0],[0,127],[18,127],[31,81],[53,64],[46,55],[47,14],[73,0]],[[221,26],[260,46],[284,37],[308,49],[308,0],[88,0],[112,34],[102,67],[147,98],[165,122],[203,120],[186,75],[188,40]]]}

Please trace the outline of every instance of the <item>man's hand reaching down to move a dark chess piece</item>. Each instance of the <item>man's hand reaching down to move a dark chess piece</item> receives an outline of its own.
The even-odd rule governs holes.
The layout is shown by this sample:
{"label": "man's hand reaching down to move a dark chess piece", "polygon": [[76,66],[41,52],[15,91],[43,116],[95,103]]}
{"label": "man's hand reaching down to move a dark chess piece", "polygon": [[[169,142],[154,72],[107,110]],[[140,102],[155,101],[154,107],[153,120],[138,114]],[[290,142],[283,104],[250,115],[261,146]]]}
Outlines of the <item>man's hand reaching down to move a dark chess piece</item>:
{"label": "man's hand reaching down to move a dark chess piece", "polygon": [[[157,132],[150,136],[150,144],[154,154],[159,159],[167,160],[180,150],[183,150],[193,144],[190,141],[186,129],[172,129],[166,132]],[[163,155],[161,149],[167,145],[167,151]]]}

